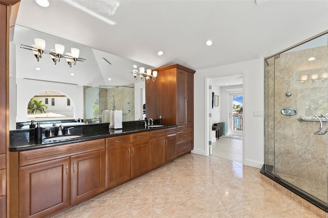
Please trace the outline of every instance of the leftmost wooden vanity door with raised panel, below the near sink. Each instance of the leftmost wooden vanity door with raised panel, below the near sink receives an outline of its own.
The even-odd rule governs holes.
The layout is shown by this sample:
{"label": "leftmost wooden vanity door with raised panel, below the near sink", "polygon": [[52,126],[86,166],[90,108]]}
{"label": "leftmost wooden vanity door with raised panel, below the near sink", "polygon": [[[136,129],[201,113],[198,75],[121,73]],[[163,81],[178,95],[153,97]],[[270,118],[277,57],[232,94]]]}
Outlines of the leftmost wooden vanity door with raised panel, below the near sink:
{"label": "leftmost wooden vanity door with raised panel, below the near sink", "polygon": [[19,168],[19,217],[45,217],[70,205],[70,159]]}

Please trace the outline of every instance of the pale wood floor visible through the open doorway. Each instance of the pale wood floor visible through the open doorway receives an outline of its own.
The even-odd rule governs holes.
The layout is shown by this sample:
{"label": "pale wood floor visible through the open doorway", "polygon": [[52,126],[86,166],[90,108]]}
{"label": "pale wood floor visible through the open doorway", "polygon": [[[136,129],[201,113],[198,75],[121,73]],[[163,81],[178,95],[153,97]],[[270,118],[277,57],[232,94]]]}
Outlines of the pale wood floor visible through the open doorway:
{"label": "pale wood floor visible through the open doorway", "polygon": [[242,140],[220,137],[212,143],[212,156],[242,163]]}

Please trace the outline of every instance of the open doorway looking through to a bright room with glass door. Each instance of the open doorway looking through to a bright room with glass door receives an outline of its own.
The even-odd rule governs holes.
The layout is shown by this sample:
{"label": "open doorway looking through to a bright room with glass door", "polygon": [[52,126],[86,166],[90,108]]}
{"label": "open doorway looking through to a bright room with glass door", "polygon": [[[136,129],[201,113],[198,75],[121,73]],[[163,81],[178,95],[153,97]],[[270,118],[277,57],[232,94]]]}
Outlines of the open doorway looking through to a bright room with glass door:
{"label": "open doorway looking through to a bright room with glass door", "polygon": [[[243,162],[243,74],[209,78],[210,114],[209,154],[231,161]],[[212,99],[218,96],[218,103],[212,106]],[[217,105],[217,106],[215,106]],[[220,136],[213,137],[213,125],[221,123]]]}

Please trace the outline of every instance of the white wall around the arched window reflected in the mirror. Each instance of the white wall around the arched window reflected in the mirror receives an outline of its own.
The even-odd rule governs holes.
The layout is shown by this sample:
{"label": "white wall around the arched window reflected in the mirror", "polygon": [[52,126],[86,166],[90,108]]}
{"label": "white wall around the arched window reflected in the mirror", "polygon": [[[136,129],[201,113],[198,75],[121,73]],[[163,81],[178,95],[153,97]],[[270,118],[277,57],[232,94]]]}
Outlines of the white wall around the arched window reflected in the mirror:
{"label": "white wall around the arched window reflected in the mirror", "polygon": [[16,84],[17,108],[10,108],[10,113],[17,110],[16,122],[27,121],[27,104],[29,100],[34,95],[44,91],[57,91],[65,94],[71,99],[71,104],[74,104],[74,118],[83,118],[83,86],[24,80],[22,78],[16,78]]}

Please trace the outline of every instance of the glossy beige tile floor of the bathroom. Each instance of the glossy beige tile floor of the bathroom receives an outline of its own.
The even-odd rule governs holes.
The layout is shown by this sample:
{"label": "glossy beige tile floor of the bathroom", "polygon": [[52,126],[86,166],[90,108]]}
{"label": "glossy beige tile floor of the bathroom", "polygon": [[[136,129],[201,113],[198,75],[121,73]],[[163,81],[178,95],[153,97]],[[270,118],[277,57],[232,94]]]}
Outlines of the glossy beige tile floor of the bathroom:
{"label": "glossy beige tile floor of the bathroom", "polygon": [[188,154],[55,217],[317,217],[259,171]]}

